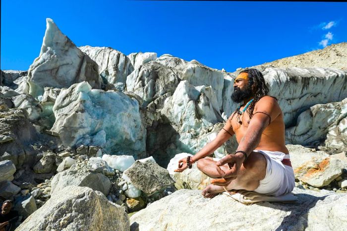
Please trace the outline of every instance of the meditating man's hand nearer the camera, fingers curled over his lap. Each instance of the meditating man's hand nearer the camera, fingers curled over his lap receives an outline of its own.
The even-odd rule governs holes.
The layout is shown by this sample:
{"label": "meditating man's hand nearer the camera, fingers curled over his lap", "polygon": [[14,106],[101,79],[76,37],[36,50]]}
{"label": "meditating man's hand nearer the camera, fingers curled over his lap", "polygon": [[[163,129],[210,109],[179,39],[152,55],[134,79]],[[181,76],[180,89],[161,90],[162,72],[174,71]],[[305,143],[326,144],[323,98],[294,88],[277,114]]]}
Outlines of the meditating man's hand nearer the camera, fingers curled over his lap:
{"label": "meditating man's hand nearer the camera, fingers curled over his lap", "polygon": [[[219,186],[226,186],[228,185],[231,180],[236,179],[238,171],[241,168],[241,165],[244,161],[244,155],[242,153],[236,153],[235,155],[228,155],[225,158],[221,159],[216,163],[216,170],[222,178],[214,179],[211,181],[211,183],[219,185]],[[229,169],[227,171],[223,171],[220,166],[223,166],[225,164],[228,164]]]}

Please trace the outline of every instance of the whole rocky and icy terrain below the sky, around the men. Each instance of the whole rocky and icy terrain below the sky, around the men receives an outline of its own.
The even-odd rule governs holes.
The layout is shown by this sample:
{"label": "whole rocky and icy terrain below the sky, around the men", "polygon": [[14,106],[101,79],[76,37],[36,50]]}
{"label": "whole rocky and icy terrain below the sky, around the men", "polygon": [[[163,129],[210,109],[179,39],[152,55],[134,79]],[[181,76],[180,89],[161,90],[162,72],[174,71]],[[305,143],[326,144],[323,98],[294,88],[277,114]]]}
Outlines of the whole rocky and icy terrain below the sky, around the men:
{"label": "whole rocky and icy terrain below the sky, around the men", "polygon": [[[18,230],[347,226],[346,43],[256,66],[284,112],[298,202],[247,206],[203,198],[211,179],[196,165],[173,173],[237,107],[238,72],[77,48],[52,19],[46,35],[28,71],[1,70],[0,200],[14,201]],[[232,138],[213,156],[235,147]]]}

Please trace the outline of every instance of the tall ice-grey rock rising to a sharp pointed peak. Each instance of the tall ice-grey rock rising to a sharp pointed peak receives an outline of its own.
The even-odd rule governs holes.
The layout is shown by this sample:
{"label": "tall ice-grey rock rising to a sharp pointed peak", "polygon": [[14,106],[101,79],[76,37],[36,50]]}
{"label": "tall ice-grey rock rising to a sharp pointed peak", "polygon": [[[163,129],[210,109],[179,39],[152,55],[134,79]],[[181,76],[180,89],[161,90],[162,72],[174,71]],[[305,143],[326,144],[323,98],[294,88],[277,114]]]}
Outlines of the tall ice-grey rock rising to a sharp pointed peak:
{"label": "tall ice-grey rock rising to a sharp pointed peak", "polygon": [[82,81],[100,89],[98,64],[63,35],[52,19],[46,21],[40,56],[28,71],[29,93],[37,97],[43,95],[43,87],[68,88]]}

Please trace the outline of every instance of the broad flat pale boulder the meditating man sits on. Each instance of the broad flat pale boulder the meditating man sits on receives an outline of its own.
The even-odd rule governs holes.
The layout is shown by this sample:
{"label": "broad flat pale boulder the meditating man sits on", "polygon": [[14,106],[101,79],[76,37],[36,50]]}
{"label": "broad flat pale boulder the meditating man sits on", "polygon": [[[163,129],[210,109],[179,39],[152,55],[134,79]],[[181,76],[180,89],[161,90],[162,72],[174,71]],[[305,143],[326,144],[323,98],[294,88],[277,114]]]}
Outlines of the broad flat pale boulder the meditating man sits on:
{"label": "broad flat pale boulder the meditating man sits on", "polygon": [[[131,230],[306,230],[347,226],[346,194],[294,189],[295,203],[244,205],[227,195],[203,198],[198,190],[178,190],[130,218]],[[256,214],[256,216],[255,216]]]}

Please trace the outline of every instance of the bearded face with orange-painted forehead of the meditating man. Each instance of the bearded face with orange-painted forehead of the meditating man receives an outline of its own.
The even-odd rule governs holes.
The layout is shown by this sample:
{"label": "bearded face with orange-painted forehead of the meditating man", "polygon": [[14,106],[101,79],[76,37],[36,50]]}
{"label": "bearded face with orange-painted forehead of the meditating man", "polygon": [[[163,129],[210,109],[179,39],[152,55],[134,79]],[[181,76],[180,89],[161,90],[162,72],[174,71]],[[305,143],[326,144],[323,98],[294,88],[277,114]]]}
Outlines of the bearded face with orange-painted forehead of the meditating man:
{"label": "bearded face with orange-painted forehead of the meditating man", "polygon": [[240,73],[234,80],[234,91],[231,99],[235,103],[241,103],[253,96],[252,86],[249,85],[248,73]]}

